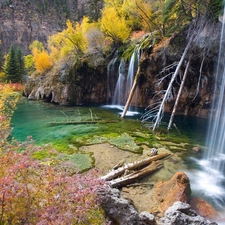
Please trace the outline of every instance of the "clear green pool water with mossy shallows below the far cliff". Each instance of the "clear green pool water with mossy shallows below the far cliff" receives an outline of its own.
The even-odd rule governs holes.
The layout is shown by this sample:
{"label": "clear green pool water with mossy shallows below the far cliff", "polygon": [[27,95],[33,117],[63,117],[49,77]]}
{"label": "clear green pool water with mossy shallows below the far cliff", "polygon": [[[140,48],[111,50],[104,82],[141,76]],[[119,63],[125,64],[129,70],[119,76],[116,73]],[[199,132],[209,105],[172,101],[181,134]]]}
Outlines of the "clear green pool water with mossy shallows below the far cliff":
{"label": "clear green pool water with mossy shallows below the far cliff", "polygon": [[[141,111],[141,109],[139,110]],[[173,152],[181,149],[173,149],[171,142],[189,143],[186,148],[191,149],[195,143],[204,143],[205,120],[176,116],[175,123],[179,132],[173,128],[168,134],[160,128],[152,133],[142,126],[141,114],[127,116],[121,119],[121,109],[107,107],[69,107],[53,105],[38,101],[29,101],[21,98],[12,117],[12,137],[18,141],[26,141],[27,136],[32,136],[36,144],[51,143],[58,152],[63,153],[62,159],[71,160],[80,165],[80,169],[88,169],[94,159],[91,155],[79,151],[79,147],[89,144],[109,142],[120,149],[141,153],[141,145],[144,143],[149,148],[157,142],[163,142]],[[49,122],[90,121],[103,120],[104,123],[96,124],[49,124]],[[165,120],[168,118],[165,116]],[[110,123],[108,123],[110,121]],[[162,126],[163,127],[163,126]],[[168,144],[166,144],[168,142]],[[191,153],[187,151],[186,156]],[[38,153],[36,158],[42,159],[47,152]],[[68,159],[67,155],[70,155]],[[185,156],[185,157],[186,157]]]}

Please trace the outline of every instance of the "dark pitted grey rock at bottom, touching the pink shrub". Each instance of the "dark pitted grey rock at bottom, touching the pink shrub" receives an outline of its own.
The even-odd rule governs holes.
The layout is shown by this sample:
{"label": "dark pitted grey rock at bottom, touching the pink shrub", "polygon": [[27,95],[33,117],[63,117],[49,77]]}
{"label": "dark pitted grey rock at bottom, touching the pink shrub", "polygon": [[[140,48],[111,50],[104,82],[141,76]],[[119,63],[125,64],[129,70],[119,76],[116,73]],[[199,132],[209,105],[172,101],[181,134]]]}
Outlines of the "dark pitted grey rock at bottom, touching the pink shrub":
{"label": "dark pitted grey rock at bottom, touching the pink shrub", "polygon": [[156,225],[155,218],[148,212],[138,214],[134,205],[120,197],[116,188],[102,188],[98,191],[101,206],[106,215],[118,225]]}

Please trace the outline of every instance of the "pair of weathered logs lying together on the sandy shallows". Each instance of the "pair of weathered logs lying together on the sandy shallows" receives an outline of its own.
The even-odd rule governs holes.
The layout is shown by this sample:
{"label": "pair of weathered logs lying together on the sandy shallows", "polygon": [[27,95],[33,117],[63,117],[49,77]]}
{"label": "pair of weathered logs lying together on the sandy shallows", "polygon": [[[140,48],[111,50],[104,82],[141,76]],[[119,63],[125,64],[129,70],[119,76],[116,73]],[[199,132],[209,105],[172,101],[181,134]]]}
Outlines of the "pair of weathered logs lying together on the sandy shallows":
{"label": "pair of weathered logs lying together on the sandy shallows", "polygon": [[161,153],[138,162],[128,163],[117,168],[114,167],[101,179],[109,181],[111,187],[122,187],[137,179],[151,174],[163,167],[162,160],[170,156],[168,153]]}

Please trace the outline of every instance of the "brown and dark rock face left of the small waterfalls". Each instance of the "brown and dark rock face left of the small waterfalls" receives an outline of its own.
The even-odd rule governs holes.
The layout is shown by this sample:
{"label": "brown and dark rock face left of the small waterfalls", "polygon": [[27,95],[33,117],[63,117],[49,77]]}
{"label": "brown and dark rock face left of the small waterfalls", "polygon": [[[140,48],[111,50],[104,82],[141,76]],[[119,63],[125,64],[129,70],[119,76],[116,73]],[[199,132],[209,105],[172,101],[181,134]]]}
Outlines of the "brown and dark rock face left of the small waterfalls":
{"label": "brown and dark rock face left of the small waterfalls", "polygon": [[55,66],[51,71],[27,81],[24,95],[61,105],[100,104],[106,100],[106,71],[87,64],[79,70],[73,66]]}

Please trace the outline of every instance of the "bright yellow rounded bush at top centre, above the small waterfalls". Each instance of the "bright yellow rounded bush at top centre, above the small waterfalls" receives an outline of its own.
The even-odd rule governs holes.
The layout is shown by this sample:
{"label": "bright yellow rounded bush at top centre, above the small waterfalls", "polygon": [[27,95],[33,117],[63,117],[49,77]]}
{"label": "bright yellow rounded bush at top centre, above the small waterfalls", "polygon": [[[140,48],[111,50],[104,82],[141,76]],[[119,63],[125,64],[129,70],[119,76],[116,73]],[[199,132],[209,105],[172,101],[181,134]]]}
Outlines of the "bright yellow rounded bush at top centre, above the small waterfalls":
{"label": "bright yellow rounded bush at top centre, above the small waterfalls", "polygon": [[104,8],[101,19],[102,31],[117,44],[127,40],[131,28],[123,16],[119,16],[114,7]]}

